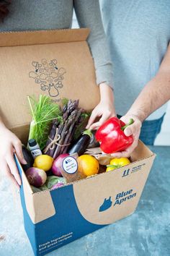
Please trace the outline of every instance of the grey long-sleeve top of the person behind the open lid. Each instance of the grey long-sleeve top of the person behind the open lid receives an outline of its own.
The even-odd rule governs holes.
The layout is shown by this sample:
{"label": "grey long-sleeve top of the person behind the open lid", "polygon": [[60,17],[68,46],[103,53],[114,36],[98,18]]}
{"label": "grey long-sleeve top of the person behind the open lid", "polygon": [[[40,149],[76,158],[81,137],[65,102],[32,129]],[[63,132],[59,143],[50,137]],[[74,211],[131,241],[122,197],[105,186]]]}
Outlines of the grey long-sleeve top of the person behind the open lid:
{"label": "grey long-sleeve top of the person behind the open lid", "polygon": [[107,82],[112,86],[112,63],[98,0],[15,0],[9,7],[8,17],[0,23],[0,32],[69,28],[73,9],[80,27],[91,29],[88,43],[94,58],[97,84]]}

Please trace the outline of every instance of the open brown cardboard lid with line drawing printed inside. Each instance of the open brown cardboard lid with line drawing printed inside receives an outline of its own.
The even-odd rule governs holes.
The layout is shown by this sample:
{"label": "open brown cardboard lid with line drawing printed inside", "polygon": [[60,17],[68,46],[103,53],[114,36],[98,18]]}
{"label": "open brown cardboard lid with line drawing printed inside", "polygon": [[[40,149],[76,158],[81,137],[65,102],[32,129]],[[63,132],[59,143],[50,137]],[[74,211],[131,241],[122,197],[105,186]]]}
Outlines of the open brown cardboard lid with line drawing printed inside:
{"label": "open brown cardboard lid with line drawing printed inside", "polygon": [[0,33],[0,115],[7,127],[30,123],[27,95],[49,95],[57,103],[61,98],[79,99],[86,110],[99,103],[94,61],[85,41],[88,33],[86,29]]}

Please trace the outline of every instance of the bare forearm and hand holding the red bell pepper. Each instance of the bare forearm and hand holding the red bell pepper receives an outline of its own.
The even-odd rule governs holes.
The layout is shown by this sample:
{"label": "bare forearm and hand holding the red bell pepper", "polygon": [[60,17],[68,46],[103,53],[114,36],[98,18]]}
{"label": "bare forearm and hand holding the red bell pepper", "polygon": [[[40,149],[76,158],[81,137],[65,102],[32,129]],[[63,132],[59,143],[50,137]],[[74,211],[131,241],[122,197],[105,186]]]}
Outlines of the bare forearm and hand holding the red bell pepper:
{"label": "bare forearm and hand holding the red bell pepper", "polygon": [[122,116],[122,121],[128,123],[130,118],[134,119],[134,123],[125,129],[125,135],[133,135],[134,142],[126,151],[115,153],[115,157],[129,156],[138,145],[140,135],[140,127],[142,122],[164,103],[170,99],[170,43],[167,48],[164,59],[158,72],[151,81],[141,91],[138,98],[125,116]]}

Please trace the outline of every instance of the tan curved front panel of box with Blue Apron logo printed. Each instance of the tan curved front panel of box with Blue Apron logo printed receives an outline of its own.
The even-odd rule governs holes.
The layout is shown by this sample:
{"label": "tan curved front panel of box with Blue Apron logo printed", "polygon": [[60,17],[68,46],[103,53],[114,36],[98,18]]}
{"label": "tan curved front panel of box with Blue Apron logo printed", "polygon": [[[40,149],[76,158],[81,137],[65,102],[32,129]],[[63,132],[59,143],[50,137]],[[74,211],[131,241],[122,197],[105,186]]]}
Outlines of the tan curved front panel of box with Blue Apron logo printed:
{"label": "tan curved front panel of box with Blue Apron logo printed", "polygon": [[[73,184],[76,204],[86,221],[104,225],[133,213],[146,184],[153,159],[154,156],[151,156],[128,166],[98,174]],[[133,171],[135,170],[134,167],[139,165],[141,166],[140,170]],[[129,174],[123,176],[125,171],[128,170]],[[115,204],[118,194],[130,191],[132,192],[129,195],[119,198],[119,202],[123,200],[120,204]],[[104,199],[110,199],[112,205],[107,210],[99,211]]]}

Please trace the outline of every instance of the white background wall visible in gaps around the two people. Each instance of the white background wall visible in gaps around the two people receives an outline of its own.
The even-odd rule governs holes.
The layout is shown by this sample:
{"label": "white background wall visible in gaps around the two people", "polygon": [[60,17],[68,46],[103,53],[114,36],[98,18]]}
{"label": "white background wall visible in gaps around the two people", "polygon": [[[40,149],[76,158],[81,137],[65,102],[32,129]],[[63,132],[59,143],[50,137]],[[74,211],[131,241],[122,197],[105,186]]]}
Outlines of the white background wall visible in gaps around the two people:
{"label": "white background wall visible in gaps around the two people", "polygon": [[[76,20],[76,14],[73,13],[73,25],[72,28],[79,27],[78,22]],[[164,121],[161,127],[161,132],[156,137],[155,145],[170,145],[170,101],[168,104],[168,108],[166,111],[166,115],[164,116]]]}

